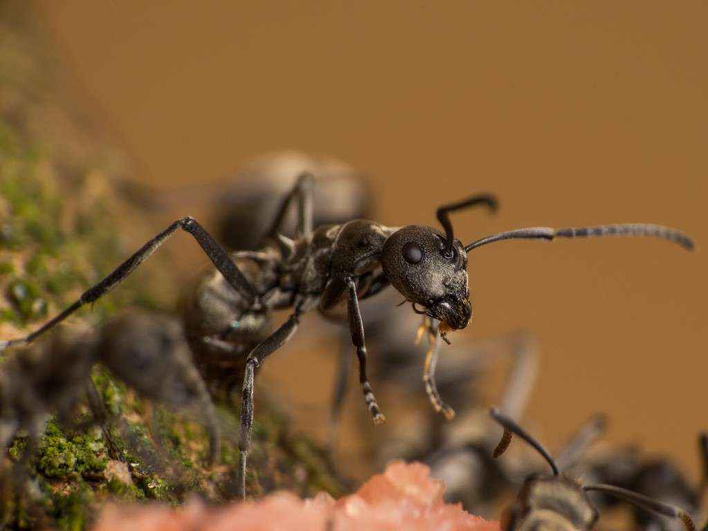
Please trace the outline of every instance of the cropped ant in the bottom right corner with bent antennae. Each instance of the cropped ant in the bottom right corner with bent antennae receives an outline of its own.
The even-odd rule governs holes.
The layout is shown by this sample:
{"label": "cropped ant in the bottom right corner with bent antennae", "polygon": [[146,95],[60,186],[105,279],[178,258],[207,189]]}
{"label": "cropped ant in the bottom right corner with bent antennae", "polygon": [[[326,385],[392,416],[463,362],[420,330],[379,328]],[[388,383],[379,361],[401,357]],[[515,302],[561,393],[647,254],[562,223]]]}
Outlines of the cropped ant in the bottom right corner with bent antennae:
{"label": "cropped ant in the bottom right corner with bent antennae", "polygon": [[504,428],[504,434],[493,452],[493,457],[500,457],[508,448],[513,435],[518,435],[546,459],[553,472],[552,475],[532,474],[526,479],[515,503],[502,513],[502,531],[589,531],[599,517],[598,510],[588,496],[591,491],[615,496],[655,515],[676,518],[683,522],[687,531],[696,531],[690,515],[683,508],[618,486],[581,484],[570,476],[561,474],[554,459],[535,438],[498,409],[492,408],[490,414]]}

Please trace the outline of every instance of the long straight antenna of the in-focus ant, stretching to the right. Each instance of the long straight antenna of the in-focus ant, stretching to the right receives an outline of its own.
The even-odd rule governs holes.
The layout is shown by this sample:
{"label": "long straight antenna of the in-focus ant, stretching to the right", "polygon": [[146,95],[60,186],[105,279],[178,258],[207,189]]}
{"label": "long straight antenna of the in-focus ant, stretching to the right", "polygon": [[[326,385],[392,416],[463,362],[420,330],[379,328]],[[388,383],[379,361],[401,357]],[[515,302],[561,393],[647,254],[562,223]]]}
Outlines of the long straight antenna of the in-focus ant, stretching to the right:
{"label": "long straight antenna of the in-focus ant, stretching to the right", "polygon": [[581,238],[586,236],[651,236],[653,238],[673,241],[688,251],[694,248],[693,240],[689,236],[670,227],[649,223],[624,223],[614,225],[598,225],[596,227],[580,227],[577,229],[552,229],[550,227],[530,227],[527,229],[515,229],[513,231],[500,232],[492,236],[486,236],[464,247],[469,253],[472,249],[491,244],[495,241],[510,239],[544,239],[554,238]]}

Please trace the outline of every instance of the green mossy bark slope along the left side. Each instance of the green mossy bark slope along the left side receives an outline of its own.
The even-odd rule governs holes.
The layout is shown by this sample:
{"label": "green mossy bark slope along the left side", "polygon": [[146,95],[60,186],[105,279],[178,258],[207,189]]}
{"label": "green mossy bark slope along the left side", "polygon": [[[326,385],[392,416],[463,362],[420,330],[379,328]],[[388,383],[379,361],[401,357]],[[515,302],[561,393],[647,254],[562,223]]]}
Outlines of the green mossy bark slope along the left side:
{"label": "green mossy bark slope along the left side", "polygon": [[[96,140],[85,120],[57,97],[57,62],[32,15],[25,3],[0,1],[2,339],[34,329],[151,235],[136,206],[143,204],[136,201],[139,190],[125,178],[125,156]],[[130,231],[119,230],[121,219],[131,220]],[[174,299],[153,294],[170,294],[178,283],[166,273],[170,268],[159,267],[160,260],[151,258],[152,267],[70,321],[100,326],[128,305],[169,310]],[[17,438],[1,467],[3,525],[82,529],[102,503],[116,498],[172,504],[193,495],[215,503],[234,498],[239,419],[230,397],[215,397],[224,432],[222,459],[205,467],[207,435],[190,412],[147,404],[101,367],[93,379],[113,421],[72,432],[50,418],[21,485],[11,480],[22,467],[25,440]],[[88,411],[81,414],[89,418]],[[275,404],[259,401],[253,433],[253,495],[275,489],[307,496],[343,492],[326,452],[293,433]]]}

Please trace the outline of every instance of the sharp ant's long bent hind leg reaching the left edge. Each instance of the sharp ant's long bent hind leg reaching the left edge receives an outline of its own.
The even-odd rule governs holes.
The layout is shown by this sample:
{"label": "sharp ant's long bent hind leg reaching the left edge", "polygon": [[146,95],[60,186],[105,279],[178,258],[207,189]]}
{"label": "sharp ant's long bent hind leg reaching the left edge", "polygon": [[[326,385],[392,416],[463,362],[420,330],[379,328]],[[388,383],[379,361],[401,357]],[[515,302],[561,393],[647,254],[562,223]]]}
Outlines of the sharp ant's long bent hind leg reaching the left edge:
{"label": "sharp ant's long bent hind leg reaching the left edge", "polygon": [[130,273],[132,273],[138,265],[154,253],[154,251],[156,251],[156,249],[161,246],[166,239],[172,236],[177,229],[182,229],[194,237],[219,272],[224,275],[224,278],[227,282],[229,282],[229,285],[231,285],[234,290],[241,293],[241,295],[246,298],[251,306],[257,303],[258,293],[256,292],[256,289],[248,280],[246,280],[244,274],[241,273],[239,268],[236,266],[234,261],[232,261],[227,252],[224,251],[222,246],[220,246],[219,243],[205,231],[196,219],[192,217],[183,217],[182,219],[178,219],[176,222],[171,224],[152,240],[148,241],[147,244],[144,244],[144,246],[142,246],[135,254],[119,265],[113,273],[110,273],[110,275],[101,280],[101,282],[98,282],[98,284],[90,287],[89,290],[86,290],[86,292],[79,297],[79,300],[74,302],[74,304],[69,306],[67,309],[64,309],[62,313],[47,322],[47,324],[42,326],[40,329],[35,330],[33,333],[30,333],[24,338],[13,339],[12,341],[0,341],[0,351],[9,346],[30,343],[30,341],[33,341],[45,331],[64,321],[64,319],[67,319],[69,315],[76,312],[76,310],[84,306],[84,304],[95,302],[103,297],[103,295],[125,280],[125,278],[127,278],[127,276],[130,275]]}

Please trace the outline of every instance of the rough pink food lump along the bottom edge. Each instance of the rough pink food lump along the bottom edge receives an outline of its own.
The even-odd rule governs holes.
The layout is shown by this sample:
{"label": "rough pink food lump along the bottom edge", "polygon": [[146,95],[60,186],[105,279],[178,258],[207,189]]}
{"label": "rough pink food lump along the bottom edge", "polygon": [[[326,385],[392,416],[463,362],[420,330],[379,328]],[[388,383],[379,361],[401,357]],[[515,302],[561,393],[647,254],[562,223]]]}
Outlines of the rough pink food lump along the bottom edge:
{"label": "rough pink food lump along the bottom edge", "polygon": [[180,509],[108,506],[94,531],[499,531],[498,523],[445,503],[444,491],[424,464],[397,461],[337,501],[325,493],[303,501],[281,492],[222,508],[198,501]]}

